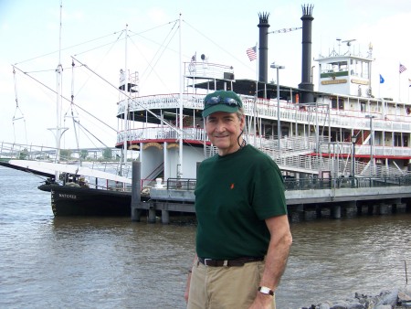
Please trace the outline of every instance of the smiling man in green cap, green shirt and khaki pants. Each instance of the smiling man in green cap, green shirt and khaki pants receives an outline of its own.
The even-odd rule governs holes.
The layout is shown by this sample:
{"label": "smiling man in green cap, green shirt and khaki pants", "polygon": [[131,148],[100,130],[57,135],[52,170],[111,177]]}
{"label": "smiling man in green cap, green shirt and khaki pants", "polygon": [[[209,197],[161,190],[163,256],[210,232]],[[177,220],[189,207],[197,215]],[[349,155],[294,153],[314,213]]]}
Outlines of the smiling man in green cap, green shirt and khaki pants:
{"label": "smiling man in green cap, green shirt and khaki pants", "polygon": [[275,308],[292,242],[279,167],[243,139],[235,92],[206,95],[203,117],[218,154],[198,168],[187,308]]}

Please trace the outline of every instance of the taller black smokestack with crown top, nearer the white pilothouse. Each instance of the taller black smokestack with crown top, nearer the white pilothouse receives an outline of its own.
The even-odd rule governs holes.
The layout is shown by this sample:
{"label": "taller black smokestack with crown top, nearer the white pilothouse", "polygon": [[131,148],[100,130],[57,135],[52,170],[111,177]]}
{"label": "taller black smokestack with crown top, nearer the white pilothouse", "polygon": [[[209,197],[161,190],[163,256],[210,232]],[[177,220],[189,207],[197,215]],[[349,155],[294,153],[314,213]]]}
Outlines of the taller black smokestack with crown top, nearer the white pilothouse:
{"label": "taller black smokestack with crown top, nearer the white pilothouse", "polygon": [[314,5],[302,5],[302,63],[301,63],[301,103],[314,101],[312,92],[314,85],[311,82],[311,27],[312,27],[312,9]]}

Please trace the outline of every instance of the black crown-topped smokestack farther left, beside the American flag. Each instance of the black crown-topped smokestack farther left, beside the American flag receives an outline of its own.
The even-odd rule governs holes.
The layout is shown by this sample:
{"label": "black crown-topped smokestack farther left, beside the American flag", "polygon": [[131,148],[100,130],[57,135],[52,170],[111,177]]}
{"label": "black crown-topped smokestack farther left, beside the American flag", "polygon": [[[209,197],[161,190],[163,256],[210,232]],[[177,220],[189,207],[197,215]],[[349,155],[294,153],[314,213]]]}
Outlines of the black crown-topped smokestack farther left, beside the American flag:
{"label": "black crown-topped smokestack farther left, beside the American flag", "polygon": [[258,81],[268,82],[269,70],[269,13],[258,13],[259,46],[258,46]]}

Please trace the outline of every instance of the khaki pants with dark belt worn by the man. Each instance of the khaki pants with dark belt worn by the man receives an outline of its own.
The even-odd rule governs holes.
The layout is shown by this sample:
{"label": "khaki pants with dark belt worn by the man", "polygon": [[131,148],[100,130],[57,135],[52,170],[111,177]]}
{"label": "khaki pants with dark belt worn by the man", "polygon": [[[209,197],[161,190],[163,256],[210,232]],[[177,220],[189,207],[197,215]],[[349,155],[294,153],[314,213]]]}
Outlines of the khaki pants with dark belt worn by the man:
{"label": "khaki pants with dark belt worn by the man", "polygon": [[[195,262],[187,309],[247,309],[256,298],[264,261],[241,267],[212,267]],[[275,296],[272,309],[276,308]]]}

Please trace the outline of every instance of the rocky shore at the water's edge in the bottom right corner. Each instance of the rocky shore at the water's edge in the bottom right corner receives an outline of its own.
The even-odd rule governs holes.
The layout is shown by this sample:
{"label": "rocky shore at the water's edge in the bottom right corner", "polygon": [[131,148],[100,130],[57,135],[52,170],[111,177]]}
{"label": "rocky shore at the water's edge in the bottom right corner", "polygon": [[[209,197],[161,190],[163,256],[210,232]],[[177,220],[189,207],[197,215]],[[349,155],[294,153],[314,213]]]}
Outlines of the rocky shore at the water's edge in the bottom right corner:
{"label": "rocky shore at the water's edge in the bottom right corner", "polygon": [[382,291],[378,295],[355,293],[353,299],[340,301],[325,301],[321,304],[311,304],[300,309],[411,309],[411,287],[395,288]]}

